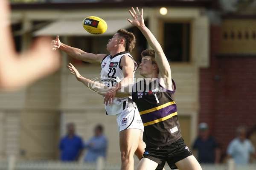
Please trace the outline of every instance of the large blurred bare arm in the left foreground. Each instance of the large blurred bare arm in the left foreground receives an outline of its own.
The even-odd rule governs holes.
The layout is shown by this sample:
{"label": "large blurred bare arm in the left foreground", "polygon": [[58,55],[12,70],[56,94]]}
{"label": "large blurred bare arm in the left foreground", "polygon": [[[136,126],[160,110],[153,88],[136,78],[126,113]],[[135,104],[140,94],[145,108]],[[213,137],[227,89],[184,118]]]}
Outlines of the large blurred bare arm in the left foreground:
{"label": "large blurred bare arm in the left foreground", "polygon": [[7,0],[0,0],[0,89],[3,90],[25,87],[61,65],[60,54],[49,46],[50,38],[38,38],[23,54],[15,51],[9,8]]}

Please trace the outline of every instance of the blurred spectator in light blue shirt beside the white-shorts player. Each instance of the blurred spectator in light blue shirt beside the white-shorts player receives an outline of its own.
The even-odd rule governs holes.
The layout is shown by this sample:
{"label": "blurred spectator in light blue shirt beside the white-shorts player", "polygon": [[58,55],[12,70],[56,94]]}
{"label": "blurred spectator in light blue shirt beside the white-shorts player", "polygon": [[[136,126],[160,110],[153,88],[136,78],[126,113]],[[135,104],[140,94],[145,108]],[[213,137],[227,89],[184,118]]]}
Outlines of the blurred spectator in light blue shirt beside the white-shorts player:
{"label": "blurred spectator in light blue shirt beside the white-shorts player", "polygon": [[106,159],[107,147],[108,140],[103,134],[103,127],[97,125],[94,128],[94,136],[84,144],[84,148],[88,149],[84,162],[96,162],[99,157]]}

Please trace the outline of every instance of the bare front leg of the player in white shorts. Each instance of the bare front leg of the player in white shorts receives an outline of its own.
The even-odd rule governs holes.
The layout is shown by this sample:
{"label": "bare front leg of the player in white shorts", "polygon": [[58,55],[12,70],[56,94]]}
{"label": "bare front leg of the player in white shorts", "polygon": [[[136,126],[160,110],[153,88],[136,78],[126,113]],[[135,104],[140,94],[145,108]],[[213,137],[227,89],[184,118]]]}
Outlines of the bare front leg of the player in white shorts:
{"label": "bare front leg of the player in white shorts", "polygon": [[125,129],[119,133],[121,170],[134,170],[134,153],[138,148],[140,129]]}

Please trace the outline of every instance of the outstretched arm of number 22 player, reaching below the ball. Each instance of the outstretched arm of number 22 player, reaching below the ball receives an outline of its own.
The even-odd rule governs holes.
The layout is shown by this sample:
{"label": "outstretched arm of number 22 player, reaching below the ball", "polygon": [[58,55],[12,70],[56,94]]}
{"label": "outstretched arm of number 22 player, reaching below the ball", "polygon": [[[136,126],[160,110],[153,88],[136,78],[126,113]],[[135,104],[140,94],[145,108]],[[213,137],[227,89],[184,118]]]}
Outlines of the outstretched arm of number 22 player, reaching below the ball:
{"label": "outstretched arm of number 22 player, reaching below the ball", "polygon": [[93,64],[100,64],[102,62],[102,59],[107,55],[107,54],[87,53],[79,48],[71,47],[69,45],[62,43],[59,40],[58,36],[56,37],[56,40],[52,40],[51,46],[52,46],[52,50],[54,51],[57,49],[60,49],[75,59],[82,60],[85,62],[90,62]]}

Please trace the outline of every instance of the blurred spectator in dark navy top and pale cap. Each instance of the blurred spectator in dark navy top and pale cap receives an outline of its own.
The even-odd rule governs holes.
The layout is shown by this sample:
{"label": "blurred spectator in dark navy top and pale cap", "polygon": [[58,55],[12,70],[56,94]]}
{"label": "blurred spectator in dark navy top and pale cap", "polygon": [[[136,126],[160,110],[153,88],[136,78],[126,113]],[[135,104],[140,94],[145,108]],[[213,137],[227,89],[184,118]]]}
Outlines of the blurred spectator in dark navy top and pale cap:
{"label": "blurred spectator in dark navy top and pale cap", "polygon": [[199,136],[193,145],[193,152],[197,152],[198,162],[204,164],[217,164],[220,162],[221,150],[213,136],[210,136],[207,123],[200,123]]}

